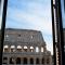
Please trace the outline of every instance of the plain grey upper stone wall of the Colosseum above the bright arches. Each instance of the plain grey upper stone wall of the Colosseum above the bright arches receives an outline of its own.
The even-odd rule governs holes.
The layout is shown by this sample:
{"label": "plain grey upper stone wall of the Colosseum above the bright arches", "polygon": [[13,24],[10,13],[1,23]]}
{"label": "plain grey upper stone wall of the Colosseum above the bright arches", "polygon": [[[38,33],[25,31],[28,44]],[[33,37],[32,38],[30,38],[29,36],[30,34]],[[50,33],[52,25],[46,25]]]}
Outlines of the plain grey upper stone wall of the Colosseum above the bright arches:
{"label": "plain grey upper stone wall of the Colosseum above the bright arches", "polygon": [[5,40],[46,44],[41,31],[27,29],[6,29]]}

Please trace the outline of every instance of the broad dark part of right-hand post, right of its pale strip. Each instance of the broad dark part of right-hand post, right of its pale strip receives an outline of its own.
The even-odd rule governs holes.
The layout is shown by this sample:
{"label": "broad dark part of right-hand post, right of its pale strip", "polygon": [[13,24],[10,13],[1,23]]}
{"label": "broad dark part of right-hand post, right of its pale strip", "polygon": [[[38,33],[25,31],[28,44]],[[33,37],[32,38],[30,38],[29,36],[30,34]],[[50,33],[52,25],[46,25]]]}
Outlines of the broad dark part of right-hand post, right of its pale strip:
{"label": "broad dark part of right-hand post, right of its pale strip", "polygon": [[56,2],[56,29],[57,29],[57,49],[58,49],[58,65],[64,65],[64,40],[63,40],[63,24],[61,0]]}

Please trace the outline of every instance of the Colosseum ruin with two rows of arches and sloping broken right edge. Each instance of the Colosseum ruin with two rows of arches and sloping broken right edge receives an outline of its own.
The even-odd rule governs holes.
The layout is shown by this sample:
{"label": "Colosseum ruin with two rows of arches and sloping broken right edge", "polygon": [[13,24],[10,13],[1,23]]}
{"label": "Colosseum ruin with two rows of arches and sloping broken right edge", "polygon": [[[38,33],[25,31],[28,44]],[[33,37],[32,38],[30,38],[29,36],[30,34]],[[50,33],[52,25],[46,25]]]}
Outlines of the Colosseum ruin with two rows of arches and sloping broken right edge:
{"label": "Colosseum ruin with two rows of arches and sloping broken right edge", "polygon": [[41,31],[6,28],[2,65],[52,65]]}

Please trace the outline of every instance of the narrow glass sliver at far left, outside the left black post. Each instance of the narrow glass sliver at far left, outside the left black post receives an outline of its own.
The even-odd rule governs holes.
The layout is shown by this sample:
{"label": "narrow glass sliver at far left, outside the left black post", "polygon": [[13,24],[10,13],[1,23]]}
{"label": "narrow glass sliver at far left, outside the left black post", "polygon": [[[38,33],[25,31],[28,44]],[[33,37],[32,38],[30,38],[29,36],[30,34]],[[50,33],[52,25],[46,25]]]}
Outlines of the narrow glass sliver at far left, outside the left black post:
{"label": "narrow glass sliver at far left, outside the left black post", "polygon": [[1,26],[2,26],[2,12],[3,12],[3,0],[0,0],[0,65],[1,65],[1,63],[2,63],[2,61],[1,61],[1,58],[2,58],[2,56],[1,56],[1,52],[2,52],[2,43],[1,43],[1,41],[2,41],[2,31],[1,31]]}

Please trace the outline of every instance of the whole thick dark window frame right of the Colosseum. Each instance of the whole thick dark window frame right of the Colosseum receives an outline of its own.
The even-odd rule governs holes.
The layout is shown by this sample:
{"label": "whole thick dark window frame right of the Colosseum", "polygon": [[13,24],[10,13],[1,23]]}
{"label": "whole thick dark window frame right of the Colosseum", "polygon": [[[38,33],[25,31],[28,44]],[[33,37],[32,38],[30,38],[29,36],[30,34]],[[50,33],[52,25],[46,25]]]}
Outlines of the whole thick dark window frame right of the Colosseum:
{"label": "whole thick dark window frame right of the Colosseum", "polygon": [[[51,12],[52,12],[52,30],[53,30],[53,52],[54,52],[54,65],[56,64],[56,48],[58,50],[58,65],[63,65],[64,63],[64,40],[63,40],[63,25],[62,25],[62,12],[61,12],[61,0],[51,0]],[[54,13],[55,9],[55,13]],[[55,14],[55,17],[54,17]],[[55,18],[55,20],[54,20]],[[54,27],[54,23],[56,23],[56,29]],[[55,42],[55,30],[57,34],[57,42]]]}

